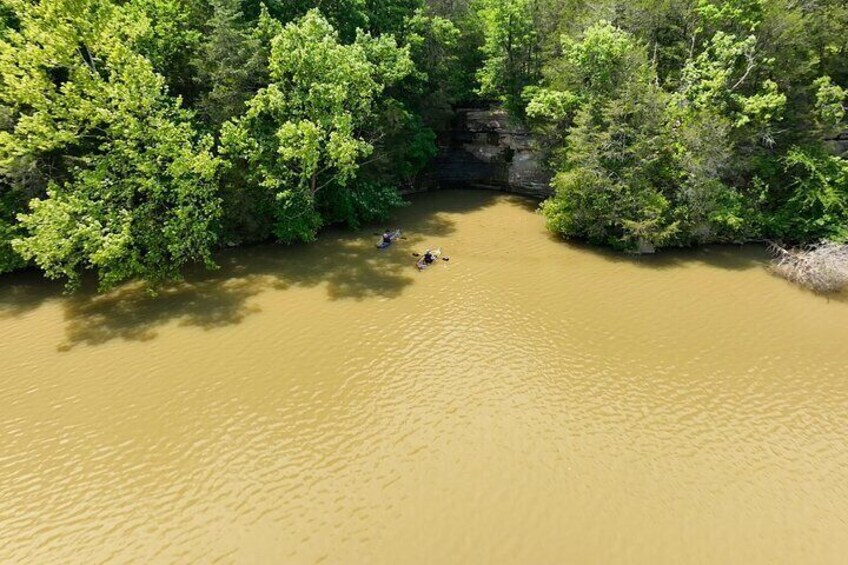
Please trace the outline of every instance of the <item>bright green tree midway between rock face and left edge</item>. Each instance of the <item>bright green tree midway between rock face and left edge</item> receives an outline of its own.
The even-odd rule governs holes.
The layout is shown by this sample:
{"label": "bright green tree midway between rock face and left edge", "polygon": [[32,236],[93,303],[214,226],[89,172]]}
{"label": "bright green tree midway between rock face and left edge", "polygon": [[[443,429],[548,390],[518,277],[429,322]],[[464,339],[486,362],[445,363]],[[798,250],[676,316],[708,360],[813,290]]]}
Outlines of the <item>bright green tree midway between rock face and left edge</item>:
{"label": "bright green tree midway between rock face and left edge", "polygon": [[372,156],[375,140],[363,132],[386,86],[409,75],[412,62],[391,36],[342,43],[311,11],[274,39],[270,69],[269,86],[224,125],[222,152],[244,183],[261,187],[274,235],[308,241],[325,222],[322,198],[351,186]]}

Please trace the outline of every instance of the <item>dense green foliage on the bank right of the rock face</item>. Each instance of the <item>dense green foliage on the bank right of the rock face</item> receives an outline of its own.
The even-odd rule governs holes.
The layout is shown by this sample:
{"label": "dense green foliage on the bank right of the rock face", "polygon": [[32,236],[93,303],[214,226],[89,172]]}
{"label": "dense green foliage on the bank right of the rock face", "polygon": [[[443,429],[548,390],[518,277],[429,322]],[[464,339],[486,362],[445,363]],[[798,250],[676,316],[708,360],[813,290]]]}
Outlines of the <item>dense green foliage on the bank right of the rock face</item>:
{"label": "dense green foliage on the bank right of the rock face", "polygon": [[[841,0],[472,0],[481,94],[543,136],[550,227],[623,249],[848,237]],[[473,26],[472,26],[473,27]]]}

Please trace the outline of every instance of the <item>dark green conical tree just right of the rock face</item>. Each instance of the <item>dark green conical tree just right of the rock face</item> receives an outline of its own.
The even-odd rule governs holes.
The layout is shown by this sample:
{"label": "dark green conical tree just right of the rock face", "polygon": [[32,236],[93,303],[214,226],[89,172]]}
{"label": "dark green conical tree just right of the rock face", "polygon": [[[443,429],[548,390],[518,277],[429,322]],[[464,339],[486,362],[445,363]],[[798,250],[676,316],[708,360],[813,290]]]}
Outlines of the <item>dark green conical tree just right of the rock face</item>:
{"label": "dark green conical tree just right of the rock face", "polygon": [[632,83],[599,111],[579,111],[556,195],[543,206],[548,225],[568,237],[618,249],[653,250],[673,241],[670,132],[665,95]]}

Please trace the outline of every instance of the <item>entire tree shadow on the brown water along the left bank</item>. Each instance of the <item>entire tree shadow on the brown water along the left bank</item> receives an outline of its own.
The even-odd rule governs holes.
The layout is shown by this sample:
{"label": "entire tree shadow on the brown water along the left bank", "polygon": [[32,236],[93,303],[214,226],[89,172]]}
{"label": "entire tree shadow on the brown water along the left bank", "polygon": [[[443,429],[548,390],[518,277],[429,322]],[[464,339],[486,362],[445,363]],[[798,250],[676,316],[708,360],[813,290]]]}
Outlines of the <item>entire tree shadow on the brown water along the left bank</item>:
{"label": "entire tree shadow on the brown water along the left bank", "polygon": [[469,192],[440,198],[424,194],[411,200],[412,205],[391,220],[391,225],[404,228],[407,239],[385,251],[374,247],[378,226],[358,232],[328,229],[311,244],[222,251],[216,256],[219,269],[190,268],[184,281],[160,289],[155,296],[138,283],[98,294],[92,280],[75,294],[63,296],[61,283],[46,281],[35,271],[15,273],[0,277],[0,320],[21,317],[49,300],[58,300],[66,337],[59,349],[70,350],[116,339],[151,340],[158,328],[173,322],[206,330],[235,325],[261,311],[250,299],[269,288],[323,285],[330,301],[397,297],[416,280],[411,252],[454,233],[450,214],[490,206],[497,195]]}

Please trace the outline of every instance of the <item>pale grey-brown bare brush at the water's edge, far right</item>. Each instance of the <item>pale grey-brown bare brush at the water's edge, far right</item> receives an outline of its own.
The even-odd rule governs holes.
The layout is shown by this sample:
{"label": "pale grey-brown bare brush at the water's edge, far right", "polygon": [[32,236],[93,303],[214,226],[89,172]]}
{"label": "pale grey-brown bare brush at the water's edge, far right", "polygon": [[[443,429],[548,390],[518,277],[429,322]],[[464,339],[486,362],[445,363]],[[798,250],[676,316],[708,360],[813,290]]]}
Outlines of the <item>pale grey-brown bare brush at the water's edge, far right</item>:
{"label": "pale grey-brown bare brush at the water's edge, far right", "polygon": [[823,241],[801,249],[771,243],[772,270],[815,292],[829,294],[848,288],[848,245]]}

